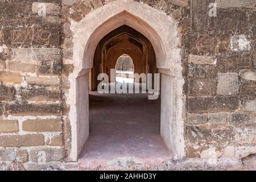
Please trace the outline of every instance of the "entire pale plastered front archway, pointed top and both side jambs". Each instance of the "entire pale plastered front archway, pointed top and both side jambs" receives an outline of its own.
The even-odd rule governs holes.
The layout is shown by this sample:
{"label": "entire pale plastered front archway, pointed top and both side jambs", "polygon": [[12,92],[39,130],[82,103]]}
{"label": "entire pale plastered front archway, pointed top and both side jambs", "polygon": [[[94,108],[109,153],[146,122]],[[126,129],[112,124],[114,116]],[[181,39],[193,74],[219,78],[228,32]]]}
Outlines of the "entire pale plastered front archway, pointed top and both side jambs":
{"label": "entire pale plastered front archway, pointed top and both side jambs", "polygon": [[127,25],[152,43],[157,67],[162,75],[161,135],[174,159],[184,156],[184,121],[182,118],[181,58],[177,23],[143,3],[118,0],[93,10],[80,22],[73,22],[73,63],[69,75],[69,119],[72,130],[71,158],[78,155],[89,136],[88,73],[93,67],[97,44],[109,32]]}

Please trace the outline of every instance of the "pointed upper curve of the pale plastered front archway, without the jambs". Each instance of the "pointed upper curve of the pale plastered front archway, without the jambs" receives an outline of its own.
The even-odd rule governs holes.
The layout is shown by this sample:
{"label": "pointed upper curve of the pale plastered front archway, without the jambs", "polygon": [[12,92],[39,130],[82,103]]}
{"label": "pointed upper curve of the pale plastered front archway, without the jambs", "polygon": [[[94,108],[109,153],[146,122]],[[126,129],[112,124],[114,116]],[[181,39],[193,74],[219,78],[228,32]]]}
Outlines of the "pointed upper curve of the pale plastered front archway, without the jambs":
{"label": "pointed upper curve of the pale plastered front archway, without the jambs", "polygon": [[77,71],[92,68],[93,52],[97,44],[109,32],[124,24],[141,32],[150,40],[156,52],[158,68],[174,69],[171,61],[179,60],[171,51],[177,49],[179,44],[176,22],[165,13],[143,3],[118,0],[92,11],[80,22],[73,23],[72,30],[75,34],[73,58]]}

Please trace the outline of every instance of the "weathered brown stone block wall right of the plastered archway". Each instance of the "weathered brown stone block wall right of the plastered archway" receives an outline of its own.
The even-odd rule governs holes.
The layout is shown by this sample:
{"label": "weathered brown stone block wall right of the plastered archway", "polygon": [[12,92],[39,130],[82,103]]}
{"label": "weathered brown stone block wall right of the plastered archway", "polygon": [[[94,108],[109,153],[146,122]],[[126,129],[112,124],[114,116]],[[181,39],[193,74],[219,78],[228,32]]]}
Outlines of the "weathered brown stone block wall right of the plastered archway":
{"label": "weathered brown stone block wall right of the plastered archway", "polygon": [[256,153],[255,1],[216,1],[216,17],[211,2],[191,4],[186,154],[242,159]]}

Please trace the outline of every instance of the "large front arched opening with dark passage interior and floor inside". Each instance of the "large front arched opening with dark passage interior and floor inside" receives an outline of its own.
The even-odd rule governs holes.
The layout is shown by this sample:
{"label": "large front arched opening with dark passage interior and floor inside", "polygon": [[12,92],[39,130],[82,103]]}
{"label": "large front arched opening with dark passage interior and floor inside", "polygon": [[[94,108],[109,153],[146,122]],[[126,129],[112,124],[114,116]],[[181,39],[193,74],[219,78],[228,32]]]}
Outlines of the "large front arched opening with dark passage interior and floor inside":
{"label": "large front arched opening with dark passage interior and floor inside", "polygon": [[171,156],[160,135],[160,97],[148,100],[145,92],[148,73],[158,73],[158,69],[154,48],[145,36],[121,26],[101,39],[90,77],[91,82],[103,79],[108,89],[101,93],[97,86],[89,92],[89,138],[80,163],[86,166],[86,162],[130,157],[160,164]]}

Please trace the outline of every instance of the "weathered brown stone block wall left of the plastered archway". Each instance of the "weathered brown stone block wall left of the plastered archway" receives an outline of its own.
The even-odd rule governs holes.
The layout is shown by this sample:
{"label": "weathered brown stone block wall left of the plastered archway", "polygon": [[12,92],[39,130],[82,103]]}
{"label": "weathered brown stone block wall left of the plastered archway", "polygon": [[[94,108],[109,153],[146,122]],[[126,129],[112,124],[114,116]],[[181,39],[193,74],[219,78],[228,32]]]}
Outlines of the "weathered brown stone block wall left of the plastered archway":
{"label": "weathered brown stone block wall left of the plastered archway", "polygon": [[0,1],[0,160],[26,167],[65,158],[61,1],[40,2]]}

